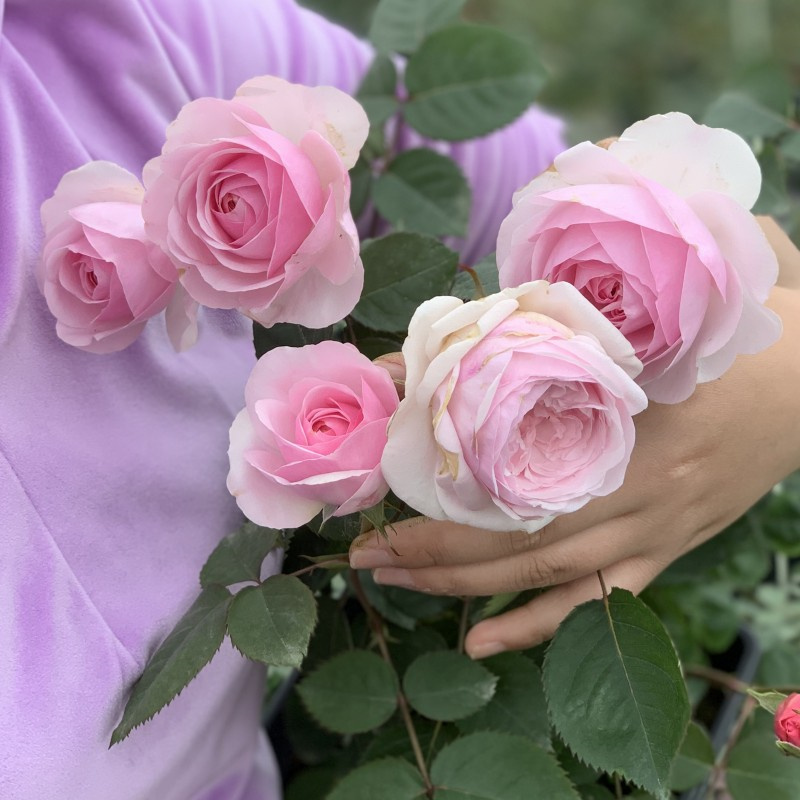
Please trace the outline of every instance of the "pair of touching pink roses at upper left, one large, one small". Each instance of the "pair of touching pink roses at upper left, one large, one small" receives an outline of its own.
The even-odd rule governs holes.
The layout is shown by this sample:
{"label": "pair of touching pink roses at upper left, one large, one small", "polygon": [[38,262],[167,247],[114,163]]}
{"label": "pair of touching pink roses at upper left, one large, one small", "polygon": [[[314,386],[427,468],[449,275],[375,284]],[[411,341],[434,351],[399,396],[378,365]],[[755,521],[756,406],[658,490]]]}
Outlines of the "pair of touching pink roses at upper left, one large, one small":
{"label": "pair of touching pink roses at upper left, one large, one small", "polygon": [[144,186],[107,161],[67,173],[42,205],[37,276],[59,337],[114,352],[166,309],[181,351],[198,304],[262,325],[342,319],[364,283],[347,170],[368,131],[338,89],[265,76],[184,106]]}

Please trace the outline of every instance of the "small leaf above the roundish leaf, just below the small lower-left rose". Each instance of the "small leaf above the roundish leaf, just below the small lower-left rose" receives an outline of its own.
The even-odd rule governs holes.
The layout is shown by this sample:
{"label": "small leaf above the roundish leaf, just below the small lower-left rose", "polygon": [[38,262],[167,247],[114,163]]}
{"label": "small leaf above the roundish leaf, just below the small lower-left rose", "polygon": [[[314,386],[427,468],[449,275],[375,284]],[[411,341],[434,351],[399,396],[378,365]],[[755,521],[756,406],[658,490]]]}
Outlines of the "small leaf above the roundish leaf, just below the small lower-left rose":
{"label": "small leaf above the roundish leaf, just below the small lower-left rose", "polygon": [[261,580],[261,564],[281,543],[280,531],[245,522],[214,548],[200,570],[200,585],[205,589],[212,583],[230,586]]}

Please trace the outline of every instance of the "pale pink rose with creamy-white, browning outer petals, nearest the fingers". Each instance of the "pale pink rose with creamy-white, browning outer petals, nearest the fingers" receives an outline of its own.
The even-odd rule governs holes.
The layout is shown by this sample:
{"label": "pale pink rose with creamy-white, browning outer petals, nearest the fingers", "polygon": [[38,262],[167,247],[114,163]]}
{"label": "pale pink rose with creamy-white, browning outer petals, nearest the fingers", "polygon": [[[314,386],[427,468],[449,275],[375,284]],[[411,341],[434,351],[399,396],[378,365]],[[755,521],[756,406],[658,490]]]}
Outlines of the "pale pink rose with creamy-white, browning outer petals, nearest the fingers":
{"label": "pale pink rose with creamy-white, browning outer petals, nearest the fingers", "polygon": [[382,466],[417,511],[533,532],[622,484],[631,417],[647,405],[641,364],[569,284],[435,297],[414,314],[403,357]]}

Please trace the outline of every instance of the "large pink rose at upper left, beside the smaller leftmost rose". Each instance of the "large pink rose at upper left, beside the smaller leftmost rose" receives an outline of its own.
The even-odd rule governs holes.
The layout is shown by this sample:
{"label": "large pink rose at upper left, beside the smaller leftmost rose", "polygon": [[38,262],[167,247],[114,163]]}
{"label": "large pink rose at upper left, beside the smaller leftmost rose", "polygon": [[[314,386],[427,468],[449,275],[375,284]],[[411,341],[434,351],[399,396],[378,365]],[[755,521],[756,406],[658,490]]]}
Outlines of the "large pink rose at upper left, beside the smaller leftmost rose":
{"label": "large pink rose at upper left, beside the smaller leftmost rose", "polygon": [[364,279],[347,170],[368,127],[338,89],[270,77],[184,106],[145,167],[143,211],[189,294],[262,325],[346,316]]}

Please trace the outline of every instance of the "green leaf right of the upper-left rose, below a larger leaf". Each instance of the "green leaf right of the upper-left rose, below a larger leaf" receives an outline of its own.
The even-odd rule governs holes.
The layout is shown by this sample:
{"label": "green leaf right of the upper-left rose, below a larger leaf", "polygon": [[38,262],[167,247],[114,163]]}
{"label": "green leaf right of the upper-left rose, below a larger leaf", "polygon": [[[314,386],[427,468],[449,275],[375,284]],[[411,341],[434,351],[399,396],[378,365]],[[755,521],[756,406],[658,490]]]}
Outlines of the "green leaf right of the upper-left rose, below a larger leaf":
{"label": "green leaf right of the upper-left rose, below a larger leaf", "polygon": [[466,236],[469,184],[453,159],[433,150],[407,150],[392,160],[375,184],[373,200],[400,230]]}

